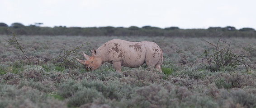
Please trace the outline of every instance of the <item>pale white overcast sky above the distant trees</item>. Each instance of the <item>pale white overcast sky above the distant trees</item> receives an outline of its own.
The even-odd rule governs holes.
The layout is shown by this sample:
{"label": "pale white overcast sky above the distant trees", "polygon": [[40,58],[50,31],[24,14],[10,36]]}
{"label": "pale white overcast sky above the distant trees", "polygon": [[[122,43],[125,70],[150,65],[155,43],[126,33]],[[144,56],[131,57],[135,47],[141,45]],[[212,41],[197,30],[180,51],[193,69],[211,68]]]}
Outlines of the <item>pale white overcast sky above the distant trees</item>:
{"label": "pale white overcast sky above the distant trees", "polygon": [[256,0],[0,0],[0,22],[66,27],[256,29]]}

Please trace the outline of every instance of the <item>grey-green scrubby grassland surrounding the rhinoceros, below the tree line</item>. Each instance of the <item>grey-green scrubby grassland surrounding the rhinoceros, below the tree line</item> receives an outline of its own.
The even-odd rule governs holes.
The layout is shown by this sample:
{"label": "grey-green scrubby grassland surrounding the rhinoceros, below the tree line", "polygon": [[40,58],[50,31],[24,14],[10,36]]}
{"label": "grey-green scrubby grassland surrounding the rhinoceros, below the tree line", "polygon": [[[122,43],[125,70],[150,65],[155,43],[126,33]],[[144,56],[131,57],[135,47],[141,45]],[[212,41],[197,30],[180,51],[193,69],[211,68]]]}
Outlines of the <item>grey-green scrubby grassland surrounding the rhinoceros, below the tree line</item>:
{"label": "grey-green scrubby grassland surrounding the rhinoceros, below the tree line", "polygon": [[[250,67],[221,67],[212,71],[202,54],[218,37],[162,36],[16,36],[28,59],[16,48],[12,36],[0,36],[0,108],[255,108],[256,38],[228,38],[234,54],[243,54]],[[162,73],[143,65],[112,64],[86,72],[75,61],[82,52],[111,39],[154,41],[164,55]],[[85,43],[85,44],[84,44]],[[65,56],[65,60],[56,62]],[[65,46],[65,47],[64,47]],[[225,44],[223,44],[224,47]],[[74,48],[75,47],[75,48]]]}

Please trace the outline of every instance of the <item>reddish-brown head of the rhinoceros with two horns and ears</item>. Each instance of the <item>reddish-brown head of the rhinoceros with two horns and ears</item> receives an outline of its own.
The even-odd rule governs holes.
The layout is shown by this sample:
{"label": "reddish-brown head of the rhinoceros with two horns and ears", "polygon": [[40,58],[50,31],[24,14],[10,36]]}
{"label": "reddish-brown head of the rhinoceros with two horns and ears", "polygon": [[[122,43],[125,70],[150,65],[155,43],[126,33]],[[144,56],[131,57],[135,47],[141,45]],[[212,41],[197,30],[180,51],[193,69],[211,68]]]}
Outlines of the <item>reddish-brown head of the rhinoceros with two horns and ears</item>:
{"label": "reddish-brown head of the rhinoceros with two horns and ears", "polygon": [[86,55],[85,53],[83,53],[85,60],[80,60],[80,59],[76,58],[76,60],[79,63],[85,65],[86,71],[94,71],[97,68],[99,68],[100,65],[102,64],[102,59],[101,59],[101,57],[99,57],[99,55],[97,54],[95,49],[91,50],[91,54],[92,54],[92,56],[89,56],[89,55]]}

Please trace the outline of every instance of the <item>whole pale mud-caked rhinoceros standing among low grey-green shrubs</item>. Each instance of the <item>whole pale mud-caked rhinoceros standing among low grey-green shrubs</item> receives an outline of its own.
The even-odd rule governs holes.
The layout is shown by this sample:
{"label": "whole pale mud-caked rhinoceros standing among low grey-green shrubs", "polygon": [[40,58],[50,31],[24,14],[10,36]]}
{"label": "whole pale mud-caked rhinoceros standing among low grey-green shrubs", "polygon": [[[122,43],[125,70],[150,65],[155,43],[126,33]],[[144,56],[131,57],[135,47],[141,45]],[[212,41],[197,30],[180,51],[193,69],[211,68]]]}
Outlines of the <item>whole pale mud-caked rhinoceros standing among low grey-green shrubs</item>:
{"label": "whole pale mud-caked rhinoceros standing among low grey-green shrubs", "polygon": [[92,56],[83,53],[86,60],[76,60],[85,65],[86,71],[93,71],[104,62],[111,63],[116,72],[121,73],[121,66],[139,67],[147,63],[148,67],[155,67],[161,71],[163,62],[162,50],[156,43],[150,41],[130,42],[126,40],[109,40],[97,50],[91,50]]}

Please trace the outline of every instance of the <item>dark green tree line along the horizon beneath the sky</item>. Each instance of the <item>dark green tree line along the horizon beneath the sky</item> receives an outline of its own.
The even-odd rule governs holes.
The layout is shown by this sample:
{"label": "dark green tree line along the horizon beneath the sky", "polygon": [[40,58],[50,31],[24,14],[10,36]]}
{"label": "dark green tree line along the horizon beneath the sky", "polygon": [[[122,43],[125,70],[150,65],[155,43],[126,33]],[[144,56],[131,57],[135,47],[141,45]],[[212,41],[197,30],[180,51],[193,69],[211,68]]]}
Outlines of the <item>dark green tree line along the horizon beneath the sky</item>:
{"label": "dark green tree line along the horizon beneath the sky", "polygon": [[180,29],[179,27],[39,27],[37,25],[24,26],[13,23],[8,26],[0,23],[0,34],[9,35],[11,31],[16,35],[41,36],[172,36],[172,37],[205,37],[217,36],[217,31],[228,37],[256,37],[253,28],[236,29],[235,27],[209,27],[208,29]]}

